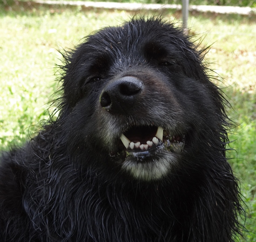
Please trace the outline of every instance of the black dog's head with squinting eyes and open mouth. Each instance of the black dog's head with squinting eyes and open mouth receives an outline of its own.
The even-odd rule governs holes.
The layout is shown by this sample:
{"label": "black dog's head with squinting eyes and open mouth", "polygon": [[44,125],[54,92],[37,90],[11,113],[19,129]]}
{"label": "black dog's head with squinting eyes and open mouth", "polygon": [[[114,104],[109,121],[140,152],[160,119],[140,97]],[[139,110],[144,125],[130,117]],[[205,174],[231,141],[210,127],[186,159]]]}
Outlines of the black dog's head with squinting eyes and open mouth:
{"label": "black dog's head with squinting eyes and open mouth", "polygon": [[139,19],[102,29],[66,61],[61,117],[72,152],[90,150],[95,163],[155,180],[216,147],[221,96],[202,52],[173,24]]}

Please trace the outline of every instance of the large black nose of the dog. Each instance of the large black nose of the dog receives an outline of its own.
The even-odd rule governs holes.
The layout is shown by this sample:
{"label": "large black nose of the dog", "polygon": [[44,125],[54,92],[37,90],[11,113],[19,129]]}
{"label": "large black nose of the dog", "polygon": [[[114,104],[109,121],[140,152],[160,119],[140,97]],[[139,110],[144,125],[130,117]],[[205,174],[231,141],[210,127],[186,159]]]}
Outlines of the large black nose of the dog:
{"label": "large black nose of the dog", "polygon": [[143,89],[142,82],[133,76],[121,77],[107,85],[101,93],[100,103],[112,113],[127,114]]}

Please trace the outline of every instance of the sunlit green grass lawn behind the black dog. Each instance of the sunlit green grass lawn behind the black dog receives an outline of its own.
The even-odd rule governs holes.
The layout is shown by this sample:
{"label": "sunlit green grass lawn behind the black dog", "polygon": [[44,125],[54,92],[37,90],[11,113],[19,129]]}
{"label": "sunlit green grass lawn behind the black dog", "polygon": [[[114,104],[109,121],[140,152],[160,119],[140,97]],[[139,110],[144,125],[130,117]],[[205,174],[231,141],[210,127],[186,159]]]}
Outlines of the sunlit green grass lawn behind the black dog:
{"label": "sunlit green grass lawn behind the black dog", "polygon": [[[0,149],[21,144],[47,119],[46,111],[58,88],[54,81],[61,55],[58,48],[81,42],[92,31],[120,24],[130,14],[123,11],[81,11],[81,8],[29,7],[5,11],[0,7]],[[181,23],[180,15],[166,17]],[[256,242],[256,21],[241,16],[190,16],[190,33],[212,47],[207,54],[211,67],[222,76],[233,109],[229,116],[238,123],[229,135],[228,155],[241,190],[248,220],[245,233]],[[54,107],[53,107],[54,108]]]}

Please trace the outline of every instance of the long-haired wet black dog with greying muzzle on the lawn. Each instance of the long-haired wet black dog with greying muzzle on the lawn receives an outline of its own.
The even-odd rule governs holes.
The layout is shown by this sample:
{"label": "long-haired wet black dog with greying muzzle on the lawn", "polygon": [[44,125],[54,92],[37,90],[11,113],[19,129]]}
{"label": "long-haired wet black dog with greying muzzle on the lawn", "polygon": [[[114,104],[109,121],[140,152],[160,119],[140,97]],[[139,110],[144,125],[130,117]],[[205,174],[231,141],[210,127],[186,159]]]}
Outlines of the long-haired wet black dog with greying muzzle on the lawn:
{"label": "long-haired wet black dog with greying muzzle on the lawn", "polygon": [[229,242],[239,189],[203,50],[160,18],[65,54],[50,121],[0,162],[4,242]]}

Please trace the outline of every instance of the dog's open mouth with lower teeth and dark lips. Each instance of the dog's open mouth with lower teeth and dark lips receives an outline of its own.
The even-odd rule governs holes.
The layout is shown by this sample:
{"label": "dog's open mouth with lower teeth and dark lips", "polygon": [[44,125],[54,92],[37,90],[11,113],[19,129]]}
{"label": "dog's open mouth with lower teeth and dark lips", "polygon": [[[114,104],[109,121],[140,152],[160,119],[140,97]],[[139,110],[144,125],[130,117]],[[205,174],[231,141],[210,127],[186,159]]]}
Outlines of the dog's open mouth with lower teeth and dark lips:
{"label": "dog's open mouth with lower teeth and dark lips", "polygon": [[157,126],[135,126],[126,130],[120,137],[128,155],[152,155],[165,149],[179,154],[185,145],[185,135],[171,134]]}

